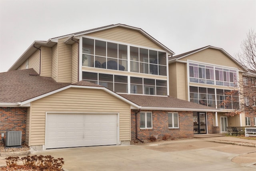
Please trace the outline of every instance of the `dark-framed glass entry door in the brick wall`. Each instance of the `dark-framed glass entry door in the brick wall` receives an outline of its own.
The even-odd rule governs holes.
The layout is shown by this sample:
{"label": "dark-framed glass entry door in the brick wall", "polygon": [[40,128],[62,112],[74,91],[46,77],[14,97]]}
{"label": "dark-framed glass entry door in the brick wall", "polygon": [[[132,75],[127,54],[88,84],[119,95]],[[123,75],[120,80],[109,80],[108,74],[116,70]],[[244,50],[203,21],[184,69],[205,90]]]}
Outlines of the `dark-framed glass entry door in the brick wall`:
{"label": "dark-framed glass entry door in the brick wall", "polygon": [[194,134],[206,133],[206,113],[193,112]]}

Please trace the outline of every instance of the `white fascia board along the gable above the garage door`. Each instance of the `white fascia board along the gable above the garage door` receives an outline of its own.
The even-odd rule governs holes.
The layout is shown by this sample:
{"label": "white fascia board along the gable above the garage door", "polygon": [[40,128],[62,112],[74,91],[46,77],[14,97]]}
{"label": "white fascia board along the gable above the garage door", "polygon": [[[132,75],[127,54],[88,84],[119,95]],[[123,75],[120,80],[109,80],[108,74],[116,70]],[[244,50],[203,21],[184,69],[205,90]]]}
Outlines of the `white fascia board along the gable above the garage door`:
{"label": "white fascia board along the gable above the garage door", "polygon": [[128,99],[126,99],[126,98],[124,98],[124,97],[118,95],[117,93],[115,93],[115,92],[113,92],[113,91],[107,89],[106,87],[92,87],[92,86],[82,86],[82,85],[68,85],[68,86],[66,86],[66,87],[62,87],[62,88],[60,88],[60,89],[51,91],[51,92],[49,92],[49,93],[45,93],[45,94],[43,94],[43,95],[39,95],[39,96],[34,97],[34,98],[32,98],[32,99],[28,99],[28,100],[26,100],[26,101],[22,101],[22,102],[20,102],[19,104],[20,104],[20,106],[25,106],[25,105],[28,105],[28,104],[29,104],[30,102],[32,102],[32,101],[41,99],[41,98],[43,98],[43,97],[46,97],[46,96],[48,96],[48,95],[52,95],[52,94],[54,94],[54,93],[58,93],[58,92],[60,92],[60,91],[63,91],[63,90],[65,90],[65,89],[68,89],[68,88],[102,89],[102,90],[104,90],[104,91],[110,93],[111,95],[117,97],[118,99],[121,99],[122,101],[125,101],[126,103],[128,103],[128,104],[130,104],[130,105],[132,105],[132,106],[134,106],[134,107],[136,107],[136,108],[139,108],[139,107],[140,107],[139,105],[133,103],[132,101],[130,101],[130,100],[128,100]]}

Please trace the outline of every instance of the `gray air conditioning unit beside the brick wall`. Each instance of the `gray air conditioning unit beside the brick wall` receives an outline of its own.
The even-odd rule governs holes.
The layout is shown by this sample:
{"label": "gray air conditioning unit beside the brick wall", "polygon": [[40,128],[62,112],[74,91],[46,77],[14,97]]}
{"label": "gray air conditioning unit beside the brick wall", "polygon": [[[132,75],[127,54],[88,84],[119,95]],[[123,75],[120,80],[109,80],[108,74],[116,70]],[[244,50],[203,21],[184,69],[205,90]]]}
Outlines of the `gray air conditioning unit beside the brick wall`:
{"label": "gray air conditioning unit beside the brick wall", "polygon": [[22,131],[6,131],[5,146],[20,146]]}

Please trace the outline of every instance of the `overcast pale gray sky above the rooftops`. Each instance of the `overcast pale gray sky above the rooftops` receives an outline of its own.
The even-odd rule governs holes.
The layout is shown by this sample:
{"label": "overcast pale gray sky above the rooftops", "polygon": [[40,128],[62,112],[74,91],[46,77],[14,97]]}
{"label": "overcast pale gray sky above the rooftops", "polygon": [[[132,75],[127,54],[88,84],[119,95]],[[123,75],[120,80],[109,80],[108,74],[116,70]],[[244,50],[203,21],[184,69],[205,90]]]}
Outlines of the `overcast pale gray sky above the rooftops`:
{"label": "overcast pale gray sky above the rooftops", "polygon": [[234,56],[256,32],[256,0],[0,0],[0,72],[34,40],[118,23],[142,28],[176,55],[211,45]]}

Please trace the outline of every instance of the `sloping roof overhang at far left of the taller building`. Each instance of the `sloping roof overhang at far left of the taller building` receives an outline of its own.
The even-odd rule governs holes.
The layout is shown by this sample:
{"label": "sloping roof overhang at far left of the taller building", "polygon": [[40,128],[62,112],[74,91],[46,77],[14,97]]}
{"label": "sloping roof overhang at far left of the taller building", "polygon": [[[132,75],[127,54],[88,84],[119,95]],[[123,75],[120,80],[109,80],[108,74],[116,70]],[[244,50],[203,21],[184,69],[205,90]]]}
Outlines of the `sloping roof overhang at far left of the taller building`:
{"label": "sloping roof overhang at far left of the taller building", "polygon": [[[41,46],[51,48],[56,44],[56,42],[52,42],[50,39],[48,41],[34,41],[8,71],[17,70],[19,66],[21,66],[32,54],[38,50],[37,48],[40,48]],[[34,46],[36,46],[36,48]]]}

